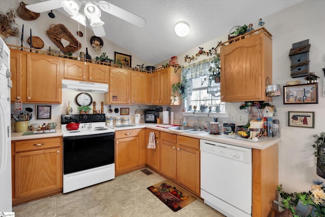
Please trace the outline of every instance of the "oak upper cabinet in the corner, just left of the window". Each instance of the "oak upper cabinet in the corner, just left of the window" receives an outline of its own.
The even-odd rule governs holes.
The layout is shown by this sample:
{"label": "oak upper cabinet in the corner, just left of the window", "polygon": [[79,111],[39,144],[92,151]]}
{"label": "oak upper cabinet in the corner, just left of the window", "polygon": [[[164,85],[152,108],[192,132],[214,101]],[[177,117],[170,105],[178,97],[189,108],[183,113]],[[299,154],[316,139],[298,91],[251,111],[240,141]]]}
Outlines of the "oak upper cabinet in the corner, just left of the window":
{"label": "oak upper cabinet in the corner, just left of the window", "polygon": [[[153,105],[171,105],[172,84],[180,81],[180,72],[175,73],[174,67],[161,69],[151,74],[150,92]],[[180,105],[176,101],[173,105]]]}

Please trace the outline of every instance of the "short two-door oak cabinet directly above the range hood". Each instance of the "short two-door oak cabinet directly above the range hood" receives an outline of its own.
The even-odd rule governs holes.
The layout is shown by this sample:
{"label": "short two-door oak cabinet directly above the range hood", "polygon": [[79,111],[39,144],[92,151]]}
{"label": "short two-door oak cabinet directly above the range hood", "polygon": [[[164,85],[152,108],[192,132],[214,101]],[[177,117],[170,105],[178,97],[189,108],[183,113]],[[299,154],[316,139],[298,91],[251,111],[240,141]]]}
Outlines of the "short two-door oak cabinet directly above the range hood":
{"label": "short two-door oak cabinet directly above the range hood", "polygon": [[63,78],[106,84],[109,81],[109,67],[107,66],[91,63],[85,65],[84,61],[72,59],[64,59],[63,65]]}

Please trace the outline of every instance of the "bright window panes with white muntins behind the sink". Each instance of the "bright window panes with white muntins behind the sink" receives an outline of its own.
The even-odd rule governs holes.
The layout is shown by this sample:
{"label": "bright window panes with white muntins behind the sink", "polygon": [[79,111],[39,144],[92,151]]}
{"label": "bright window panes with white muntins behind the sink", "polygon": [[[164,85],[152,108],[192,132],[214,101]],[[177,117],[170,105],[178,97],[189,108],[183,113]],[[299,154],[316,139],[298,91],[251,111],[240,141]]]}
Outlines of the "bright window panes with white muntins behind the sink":
{"label": "bright window panes with white muntins behind the sink", "polygon": [[[220,106],[220,111],[224,110],[224,103],[220,102],[220,92],[218,92],[217,94],[208,94],[208,79],[205,80],[206,77],[207,76],[202,76],[199,78],[192,79],[192,95],[187,96],[187,100],[185,103],[186,111],[193,110],[193,106],[197,106],[197,110],[200,110],[200,106],[203,104],[208,107],[212,106],[212,112],[216,112],[217,106]],[[220,83],[212,83],[212,88],[220,89]],[[218,110],[217,112],[220,111]]]}

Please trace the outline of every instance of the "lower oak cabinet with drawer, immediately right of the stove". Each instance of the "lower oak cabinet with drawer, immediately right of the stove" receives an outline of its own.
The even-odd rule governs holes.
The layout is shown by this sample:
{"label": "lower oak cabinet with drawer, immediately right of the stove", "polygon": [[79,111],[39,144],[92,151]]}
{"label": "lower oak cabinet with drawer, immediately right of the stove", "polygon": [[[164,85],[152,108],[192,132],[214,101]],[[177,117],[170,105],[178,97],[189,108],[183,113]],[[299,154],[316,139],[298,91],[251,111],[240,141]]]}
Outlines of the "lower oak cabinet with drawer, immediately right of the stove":
{"label": "lower oak cabinet with drawer, immediately right of the stove", "polygon": [[[120,175],[146,164],[144,129],[115,131],[115,174]],[[141,143],[140,143],[141,141]]]}

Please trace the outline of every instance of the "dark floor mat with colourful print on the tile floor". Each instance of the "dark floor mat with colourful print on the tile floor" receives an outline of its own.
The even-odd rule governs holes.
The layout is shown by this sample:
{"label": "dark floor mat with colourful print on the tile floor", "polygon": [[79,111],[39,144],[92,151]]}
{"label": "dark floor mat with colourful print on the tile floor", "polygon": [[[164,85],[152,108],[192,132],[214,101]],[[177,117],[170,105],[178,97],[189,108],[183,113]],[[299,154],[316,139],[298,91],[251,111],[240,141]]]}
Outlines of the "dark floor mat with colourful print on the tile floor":
{"label": "dark floor mat with colourful print on the tile floor", "polygon": [[174,212],[197,199],[169,180],[153,184],[147,189]]}

